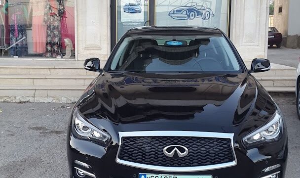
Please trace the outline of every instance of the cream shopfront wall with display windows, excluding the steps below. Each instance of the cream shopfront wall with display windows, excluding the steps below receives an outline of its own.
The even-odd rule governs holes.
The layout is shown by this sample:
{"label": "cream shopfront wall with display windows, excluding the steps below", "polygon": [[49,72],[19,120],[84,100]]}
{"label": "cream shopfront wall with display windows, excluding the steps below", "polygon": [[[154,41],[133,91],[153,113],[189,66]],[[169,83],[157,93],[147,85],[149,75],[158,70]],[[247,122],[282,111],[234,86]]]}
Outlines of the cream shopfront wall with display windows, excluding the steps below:
{"label": "cream shopfront wall with display windows, excluding the steps below", "polygon": [[[137,4],[142,12],[124,10],[127,3]],[[189,25],[220,28],[243,58],[251,60],[266,56],[268,4],[267,0],[0,0],[2,58],[105,61],[132,27]],[[194,12],[209,8],[211,14],[192,12],[186,19],[174,18],[171,11],[182,6]]]}

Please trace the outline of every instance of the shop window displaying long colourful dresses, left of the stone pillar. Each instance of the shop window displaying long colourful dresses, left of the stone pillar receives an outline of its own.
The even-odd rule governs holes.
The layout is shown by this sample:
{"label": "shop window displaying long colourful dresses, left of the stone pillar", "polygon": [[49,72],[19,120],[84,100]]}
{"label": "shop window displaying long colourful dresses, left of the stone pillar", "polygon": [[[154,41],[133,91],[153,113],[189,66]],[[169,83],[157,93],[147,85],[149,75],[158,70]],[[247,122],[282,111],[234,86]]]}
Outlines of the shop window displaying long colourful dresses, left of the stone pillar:
{"label": "shop window displaying long colourful dresses, left of the stone pillar", "polygon": [[75,58],[74,0],[0,0],[4,57]]}

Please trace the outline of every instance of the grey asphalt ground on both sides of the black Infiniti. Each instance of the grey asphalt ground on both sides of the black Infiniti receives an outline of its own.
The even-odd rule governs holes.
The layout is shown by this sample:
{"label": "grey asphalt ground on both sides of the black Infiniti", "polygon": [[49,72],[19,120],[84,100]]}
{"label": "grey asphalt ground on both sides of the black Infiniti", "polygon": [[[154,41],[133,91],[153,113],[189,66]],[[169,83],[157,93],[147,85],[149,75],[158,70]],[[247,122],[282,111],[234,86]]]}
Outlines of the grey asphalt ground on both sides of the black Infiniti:
{"label": "grey asphalt ground on both sides of the black Infiniti", "polygon": [[[293,94],[274,95],[289,134],[286,178],[300,175],[300,120]],[[72,104],[0,103],[0,178],[68,178],[66,134]]]}

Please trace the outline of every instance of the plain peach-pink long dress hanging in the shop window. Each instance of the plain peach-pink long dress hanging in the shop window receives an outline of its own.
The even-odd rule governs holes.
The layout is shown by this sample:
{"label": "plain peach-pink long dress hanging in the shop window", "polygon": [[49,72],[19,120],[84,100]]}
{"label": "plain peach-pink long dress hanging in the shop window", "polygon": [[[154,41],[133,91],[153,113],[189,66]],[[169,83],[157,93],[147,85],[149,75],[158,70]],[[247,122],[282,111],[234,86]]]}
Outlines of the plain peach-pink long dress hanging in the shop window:
{"label": "plain peach-pink long dress hanging in the shop window", "polygon": [[44,16],[38,15],[32,17],[32,36],[33,36],[33,51],[44,53],[46,51],[46,31],[47,26],[44,25]]}

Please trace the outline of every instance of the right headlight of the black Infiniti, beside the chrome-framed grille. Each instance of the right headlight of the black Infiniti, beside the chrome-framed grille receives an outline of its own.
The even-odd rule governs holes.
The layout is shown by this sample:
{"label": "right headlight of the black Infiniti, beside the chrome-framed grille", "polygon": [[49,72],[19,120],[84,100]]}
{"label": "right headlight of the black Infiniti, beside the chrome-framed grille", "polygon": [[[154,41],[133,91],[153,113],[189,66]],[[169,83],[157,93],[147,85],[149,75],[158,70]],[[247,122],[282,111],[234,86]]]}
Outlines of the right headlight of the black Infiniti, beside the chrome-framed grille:
{"label": "right headlight of the black Infiniti, beside the chrome-framed grille", "polygon": [[270,122],[245,136],[243,141],[246,145],[270,142],[278,138],[280,132],[282,132],[282,117],[280,113],[276,111]]}

